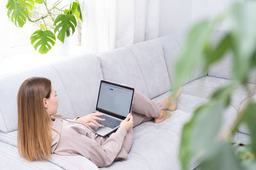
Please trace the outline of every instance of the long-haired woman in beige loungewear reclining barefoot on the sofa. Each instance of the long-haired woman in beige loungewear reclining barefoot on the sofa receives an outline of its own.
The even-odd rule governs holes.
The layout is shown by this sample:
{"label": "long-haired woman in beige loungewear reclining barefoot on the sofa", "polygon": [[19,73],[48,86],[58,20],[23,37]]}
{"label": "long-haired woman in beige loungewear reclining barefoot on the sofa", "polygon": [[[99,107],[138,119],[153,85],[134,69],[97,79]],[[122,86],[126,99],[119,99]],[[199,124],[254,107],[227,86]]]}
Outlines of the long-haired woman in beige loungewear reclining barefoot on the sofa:
{"label": "long-haired woman in beige loungewear reclining barefoot on the sofa", "polygon": [[[155,123],[170,117],[167,110],[177,108],[181,87],[172,96],[154,103],[134,90],[132,114],[129,113],[120,127],[107,136],[99,136],[91,127],[101,126],[92,113],[71,118],[56,115],[58,98],[47,78],[32,77],[20,86],[18,103],[18,148],[28,160],[47,160],[51,153],[58,155],[83,155],[98,167],[108,166],[115,160],[127,158],[132,145],[132,127],[154,118]],[[167,109],[167,110],[166,110]]]}

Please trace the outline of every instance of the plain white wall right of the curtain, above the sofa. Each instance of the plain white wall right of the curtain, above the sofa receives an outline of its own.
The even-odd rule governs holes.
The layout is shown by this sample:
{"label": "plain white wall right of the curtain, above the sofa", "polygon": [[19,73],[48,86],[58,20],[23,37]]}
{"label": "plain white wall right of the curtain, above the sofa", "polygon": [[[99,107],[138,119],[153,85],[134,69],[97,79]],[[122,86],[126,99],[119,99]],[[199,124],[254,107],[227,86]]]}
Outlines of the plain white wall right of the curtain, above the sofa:
{"label": "plain white wall right of the curtain, above the sofa", "polygon": [[[161,0],[159,36],[186,31],[199,20],[216,17],[235,1],[243,0]],[[217,29],[225,30],[228,25],[225,20]]]}

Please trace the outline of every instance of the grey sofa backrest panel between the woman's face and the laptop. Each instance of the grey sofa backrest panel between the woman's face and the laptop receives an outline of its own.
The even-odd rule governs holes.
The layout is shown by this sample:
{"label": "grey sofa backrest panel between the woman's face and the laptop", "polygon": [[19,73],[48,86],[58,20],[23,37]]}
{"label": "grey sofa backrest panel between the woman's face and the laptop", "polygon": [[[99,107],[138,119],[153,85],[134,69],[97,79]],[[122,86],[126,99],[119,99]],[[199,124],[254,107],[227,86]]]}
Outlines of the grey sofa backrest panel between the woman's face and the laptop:
{"label": "grey sofa backrest panel between the woman's face and the laptop", "polygon": [[[75,118],[95,111],[100,80],[103,80],[100,61],[96,55],[84,55],[52,64],[65,87],[73,113],[64,110],[61,115]],[[59,96],[59,92],[58,96]]]}

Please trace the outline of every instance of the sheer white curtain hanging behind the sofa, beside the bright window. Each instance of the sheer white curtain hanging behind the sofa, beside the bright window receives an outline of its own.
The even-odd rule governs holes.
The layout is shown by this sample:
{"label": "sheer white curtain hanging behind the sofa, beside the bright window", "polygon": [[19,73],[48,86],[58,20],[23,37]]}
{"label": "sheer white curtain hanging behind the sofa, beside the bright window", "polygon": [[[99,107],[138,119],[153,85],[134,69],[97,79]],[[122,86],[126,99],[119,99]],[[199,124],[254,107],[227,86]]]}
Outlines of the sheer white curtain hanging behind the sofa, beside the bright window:
{"label": "sheer white curtain hanging behind the sofa, beside the bright window", "polygon": [[81,44],[105,52],[159,37],[160,0],[84,0]]}

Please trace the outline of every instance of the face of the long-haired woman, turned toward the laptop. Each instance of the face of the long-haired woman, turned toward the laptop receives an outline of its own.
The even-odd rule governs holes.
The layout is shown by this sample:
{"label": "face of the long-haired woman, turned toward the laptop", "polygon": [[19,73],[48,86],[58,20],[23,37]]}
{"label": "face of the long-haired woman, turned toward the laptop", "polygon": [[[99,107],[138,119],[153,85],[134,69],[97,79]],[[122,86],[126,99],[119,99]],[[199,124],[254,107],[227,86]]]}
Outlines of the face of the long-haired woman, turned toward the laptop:
{"label": "face of the long-haired woman, turned toward the laptop", "polygon": [[48,99],[44,98],[44,108],[48,115],[55,115],[58,109],[58,98],[56,90],[51,87],[51,95]]}

